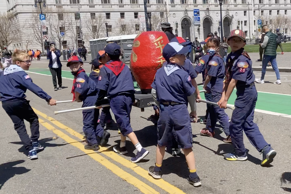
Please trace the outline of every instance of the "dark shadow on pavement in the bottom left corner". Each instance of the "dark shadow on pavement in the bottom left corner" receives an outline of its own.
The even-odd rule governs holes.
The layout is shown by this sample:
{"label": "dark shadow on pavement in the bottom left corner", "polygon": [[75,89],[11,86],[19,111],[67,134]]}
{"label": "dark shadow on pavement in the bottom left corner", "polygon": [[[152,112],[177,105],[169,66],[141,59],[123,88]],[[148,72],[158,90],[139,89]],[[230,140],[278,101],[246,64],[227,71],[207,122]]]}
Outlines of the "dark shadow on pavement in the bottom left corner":
{"label": "dark shadow on pavement in the bottom left corner", "polygon": [[0,190],[4,183],[8,181],[10,178],[14,177],[14,175],[22,175],[26,172],[29,172],[30,169],[26,169],[25,167],[13,167],[17,164],[24,163],[25,160],[17,160],[14,162],[7,162],[0,164]]}

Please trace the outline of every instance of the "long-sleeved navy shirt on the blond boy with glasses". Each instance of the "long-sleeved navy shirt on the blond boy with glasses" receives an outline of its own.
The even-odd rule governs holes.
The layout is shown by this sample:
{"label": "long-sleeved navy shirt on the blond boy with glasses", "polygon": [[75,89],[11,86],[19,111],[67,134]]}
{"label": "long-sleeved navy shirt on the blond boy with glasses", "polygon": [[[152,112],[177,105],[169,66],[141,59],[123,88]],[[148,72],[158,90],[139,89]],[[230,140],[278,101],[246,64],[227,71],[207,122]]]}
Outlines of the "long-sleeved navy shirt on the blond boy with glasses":
{"label": "long-sleeved navy shirt on the blond boy with glasses", "polygon": [[0,72],[0,101],[5,102],[15,99],[23,99],[27,89],[47,102],[52,98],[47,95],[40,87],[32,82],[32,79],[25,71],[3,74]]}

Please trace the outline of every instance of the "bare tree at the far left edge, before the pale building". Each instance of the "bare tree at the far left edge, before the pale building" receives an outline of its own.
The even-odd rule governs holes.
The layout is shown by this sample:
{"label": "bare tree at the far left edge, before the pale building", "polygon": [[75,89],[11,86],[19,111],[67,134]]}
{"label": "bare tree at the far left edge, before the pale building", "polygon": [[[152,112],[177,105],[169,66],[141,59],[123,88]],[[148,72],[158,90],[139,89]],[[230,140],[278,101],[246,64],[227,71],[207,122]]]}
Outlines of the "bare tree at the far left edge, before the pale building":
{"label": "bare tree at the far left edge, before the pale building", "polygon": [[0,39],[4,42],[3,46],[8,47],[12,42],[18,42],[20,37],[21,27],[12,18],[12,15],[0,15]]}

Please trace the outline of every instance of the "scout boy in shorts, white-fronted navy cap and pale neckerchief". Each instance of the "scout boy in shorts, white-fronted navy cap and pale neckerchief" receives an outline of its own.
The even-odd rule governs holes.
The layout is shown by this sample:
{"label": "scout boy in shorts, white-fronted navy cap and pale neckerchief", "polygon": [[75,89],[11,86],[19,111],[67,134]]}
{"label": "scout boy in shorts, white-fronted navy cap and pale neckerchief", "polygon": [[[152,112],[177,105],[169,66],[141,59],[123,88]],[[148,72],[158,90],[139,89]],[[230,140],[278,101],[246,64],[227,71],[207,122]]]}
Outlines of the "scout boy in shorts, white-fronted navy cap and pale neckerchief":
{"label": "scout boy in shorts, white-fronted navy cap and pale neckerchief", "polygon": [[157,91],[157,101],[160,103],[160,118],[158,120],[158,146],[155,166],[148,169],[149,175],[155,179],[162,177],[162,162],[165,148],[171,143],[172,131],[175,131],[178,146],[182,148],[190,170],[187,181],[194,186],[200,186],[196,173],[195,158],[192,152],[192,128],[187,109],[187,96],[195,92],[191,77],[182,70],[188,47],[178,42],[170,42],[163,49],[163,57],[167,65],[157,70],[152,88]]}

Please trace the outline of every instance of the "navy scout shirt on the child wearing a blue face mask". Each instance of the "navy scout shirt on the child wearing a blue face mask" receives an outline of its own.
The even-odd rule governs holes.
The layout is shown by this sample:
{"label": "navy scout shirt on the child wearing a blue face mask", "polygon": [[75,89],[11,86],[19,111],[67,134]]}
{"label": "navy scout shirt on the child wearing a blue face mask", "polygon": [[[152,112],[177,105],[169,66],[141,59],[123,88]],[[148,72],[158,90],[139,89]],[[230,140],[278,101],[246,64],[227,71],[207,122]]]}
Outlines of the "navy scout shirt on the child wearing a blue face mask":
{"label": "navy scout shirt on the child wearing a blue face mask", "polygon": [[[218,56],[213,56],[207,64],[208,75],[212,76],[210,80],[210,90],[211,92],[222,93],[223,90],[223,80],[225,76],[225,66],[223,64],[222,58]],[[209,87],[209,83],[207,87]]]}

